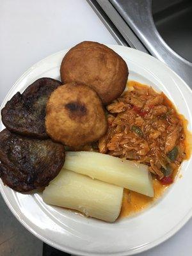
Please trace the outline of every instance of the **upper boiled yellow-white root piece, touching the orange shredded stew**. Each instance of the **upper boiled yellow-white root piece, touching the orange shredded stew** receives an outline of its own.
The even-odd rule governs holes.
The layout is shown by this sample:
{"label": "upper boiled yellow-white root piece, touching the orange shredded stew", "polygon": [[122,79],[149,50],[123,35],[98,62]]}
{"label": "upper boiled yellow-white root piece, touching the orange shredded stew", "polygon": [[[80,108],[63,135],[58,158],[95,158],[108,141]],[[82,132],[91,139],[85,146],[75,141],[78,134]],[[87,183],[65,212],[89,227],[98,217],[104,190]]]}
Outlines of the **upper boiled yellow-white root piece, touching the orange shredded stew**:
{"label": "upper boiled yellow-white root piece, touching the orange shredded stew", "polygon": [[154,196],[148,166],[97,152],[66,152],[64,168],[143,195]]}

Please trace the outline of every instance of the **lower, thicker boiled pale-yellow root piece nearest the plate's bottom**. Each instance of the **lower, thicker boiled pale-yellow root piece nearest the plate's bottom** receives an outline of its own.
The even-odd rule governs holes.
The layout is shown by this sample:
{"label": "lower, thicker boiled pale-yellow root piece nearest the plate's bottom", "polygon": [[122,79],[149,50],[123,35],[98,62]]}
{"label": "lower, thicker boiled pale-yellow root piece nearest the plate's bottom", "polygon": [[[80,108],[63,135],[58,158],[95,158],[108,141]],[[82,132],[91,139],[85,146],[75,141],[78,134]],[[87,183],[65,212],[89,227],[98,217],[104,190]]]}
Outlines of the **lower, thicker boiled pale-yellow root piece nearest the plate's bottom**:
{"label": "lower, thicker boiled pale-yellow root piece nearest the plate's bottom", "polygon": [[46,204],[83,212],[113,222],[120,214],[123,188],[62,169],[43,193]]}

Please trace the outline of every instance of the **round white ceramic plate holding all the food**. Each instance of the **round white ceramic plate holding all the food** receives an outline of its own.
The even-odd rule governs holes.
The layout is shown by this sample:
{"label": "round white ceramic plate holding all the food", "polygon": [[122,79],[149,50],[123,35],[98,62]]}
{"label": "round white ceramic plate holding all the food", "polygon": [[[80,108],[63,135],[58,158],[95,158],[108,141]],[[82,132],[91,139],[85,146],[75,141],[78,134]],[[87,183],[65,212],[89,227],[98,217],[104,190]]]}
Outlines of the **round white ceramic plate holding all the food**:
{"label": "round white ceramic plate holding all the food", "polygon": [[[191,130],[192,93],[189,87],[161,61],[128,47],[109,45],[129,67],[129,79],[163,91],[189,120]],[[15,83],[7,100],[40,77],[60,79],[60,63],[68,50],[57,52],[36,63]],[[3,124],[1,123],[1,129]],[[44,204],[42,195],[22,195],[3,186],[1,194],[17,219],[36,237],[76,255],[132,255],[162,243],[192,216],[192,163],[185,161],[177,179],[161,200],[137,216],[115,223],[85,218],[75,212]]]}

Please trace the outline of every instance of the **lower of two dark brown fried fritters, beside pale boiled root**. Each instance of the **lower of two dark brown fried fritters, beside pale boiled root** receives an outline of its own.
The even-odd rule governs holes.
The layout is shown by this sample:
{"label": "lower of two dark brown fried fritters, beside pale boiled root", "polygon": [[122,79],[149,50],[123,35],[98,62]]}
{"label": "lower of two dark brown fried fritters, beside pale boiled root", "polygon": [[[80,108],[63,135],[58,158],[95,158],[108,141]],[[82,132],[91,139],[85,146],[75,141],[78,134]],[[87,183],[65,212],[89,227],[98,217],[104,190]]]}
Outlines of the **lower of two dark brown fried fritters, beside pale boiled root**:
{"label": "lower of two dark brown fried fritters, beside pale boiled root", "polygon": [[27,192],[47,186],[65,163],[60,143],[0,132],[0,177],[10,188]]}

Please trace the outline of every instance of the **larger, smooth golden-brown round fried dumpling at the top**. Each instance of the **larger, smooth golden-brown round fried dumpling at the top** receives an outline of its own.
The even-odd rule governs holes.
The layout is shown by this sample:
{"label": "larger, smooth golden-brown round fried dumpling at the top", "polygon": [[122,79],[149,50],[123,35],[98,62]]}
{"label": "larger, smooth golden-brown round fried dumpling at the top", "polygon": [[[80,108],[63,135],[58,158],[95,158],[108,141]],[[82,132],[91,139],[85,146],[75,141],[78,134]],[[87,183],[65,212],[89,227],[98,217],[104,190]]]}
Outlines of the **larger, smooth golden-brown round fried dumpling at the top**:
{"label": "larger, smooth golden-brown round fried dumpling at the top", "polygon": [[81,42],[64,56],[60,74],[63,83],[87,84],[109,104],[124,92],[129,71],[122,57],[106,45]]}

